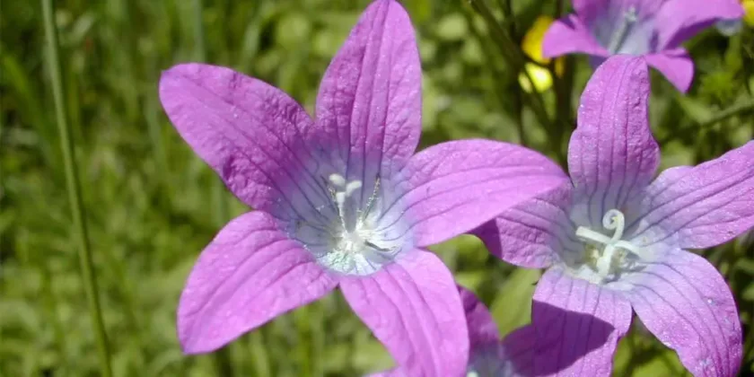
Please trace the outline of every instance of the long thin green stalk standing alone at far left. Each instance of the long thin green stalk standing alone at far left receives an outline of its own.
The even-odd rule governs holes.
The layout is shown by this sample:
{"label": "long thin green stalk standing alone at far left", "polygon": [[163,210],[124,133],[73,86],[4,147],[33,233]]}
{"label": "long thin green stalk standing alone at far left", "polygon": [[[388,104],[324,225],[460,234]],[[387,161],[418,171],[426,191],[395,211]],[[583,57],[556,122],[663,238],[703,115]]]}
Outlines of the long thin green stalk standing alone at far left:
{"label": "long thin green stalk standing alone at far left", "polygon": [[89,249],[89,235],[84,222],[84,213],[81,200],[81,187],[78,180],[78,172],[74,161],[74,145],[71,140],[71,128],[68,125],[68,115],[63,97],[63,78],[58,54],[57,28],[53,19],[52,0],[41,0],[42,13],[44,15],[45,36],[47,39],[47,63],[52,82],[52,94],[55,100],[55,115],[57,129],[60,134],[60,146],[63,149],[63,163],[66,171],[66,189],[68,201],[71,205],[71,215],[74,222],[75,239],[78,242],[79,261],[83,277],[83,287],[86,292],[86,300],[92,316],[92,328],[97,343],[97,353],[100,357],[101,375],[110,377],[110,353],[108,351],[108,337],[100,309],[100,299],[97,289],[97,278],[94,276],[92,264],[92,252]]}

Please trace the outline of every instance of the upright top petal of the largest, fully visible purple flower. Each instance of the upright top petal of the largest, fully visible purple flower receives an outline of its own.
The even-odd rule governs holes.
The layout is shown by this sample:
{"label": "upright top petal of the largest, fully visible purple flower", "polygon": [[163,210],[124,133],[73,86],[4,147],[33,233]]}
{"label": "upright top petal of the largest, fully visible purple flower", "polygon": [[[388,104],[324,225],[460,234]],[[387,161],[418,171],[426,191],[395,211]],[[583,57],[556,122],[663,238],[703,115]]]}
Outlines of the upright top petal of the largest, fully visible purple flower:
{"label": "upright top petal of the largest, fully visible purple flower", "polygon": [[346,163],[346,178],[373,178],[416,150],[421,66],[403,7],[378,0],[362,14],[320,84],[317,121]]}

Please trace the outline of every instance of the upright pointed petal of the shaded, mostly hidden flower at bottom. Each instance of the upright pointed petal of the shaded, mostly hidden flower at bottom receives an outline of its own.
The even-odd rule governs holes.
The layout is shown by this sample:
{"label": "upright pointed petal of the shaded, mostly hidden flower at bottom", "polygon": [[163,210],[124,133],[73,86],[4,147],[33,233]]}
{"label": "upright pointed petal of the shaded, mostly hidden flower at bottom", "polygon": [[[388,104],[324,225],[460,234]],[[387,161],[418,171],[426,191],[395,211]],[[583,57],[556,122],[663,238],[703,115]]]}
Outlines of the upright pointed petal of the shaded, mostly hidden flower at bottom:
{"label": "upright pointed petal of the shaded, mostly hidden flower at bottom", "polygon": [[485,346],[497,344],[500,341],[500,331],[497,329],[492,314],[477,295],[468,289],[458,286],[460,301],[466,313],[466,325],[469,329],[469,346]]}

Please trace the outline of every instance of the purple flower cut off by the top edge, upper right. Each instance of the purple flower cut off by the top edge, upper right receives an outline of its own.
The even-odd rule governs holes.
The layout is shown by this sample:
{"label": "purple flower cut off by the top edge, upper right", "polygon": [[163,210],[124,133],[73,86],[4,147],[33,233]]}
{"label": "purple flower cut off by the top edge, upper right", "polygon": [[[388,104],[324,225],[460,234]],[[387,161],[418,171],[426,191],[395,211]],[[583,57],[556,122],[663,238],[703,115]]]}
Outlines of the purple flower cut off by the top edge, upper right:
{"label": "purple flower cut off by the top edge, upper right", "polygon": [[694,78],[694,62],[681,43],[718,20],[740,19],[737,0],[572,0],[574,14],[545,35],[546,57],[582,52],[594,66],[616,54],[644,56],[681,92]]}

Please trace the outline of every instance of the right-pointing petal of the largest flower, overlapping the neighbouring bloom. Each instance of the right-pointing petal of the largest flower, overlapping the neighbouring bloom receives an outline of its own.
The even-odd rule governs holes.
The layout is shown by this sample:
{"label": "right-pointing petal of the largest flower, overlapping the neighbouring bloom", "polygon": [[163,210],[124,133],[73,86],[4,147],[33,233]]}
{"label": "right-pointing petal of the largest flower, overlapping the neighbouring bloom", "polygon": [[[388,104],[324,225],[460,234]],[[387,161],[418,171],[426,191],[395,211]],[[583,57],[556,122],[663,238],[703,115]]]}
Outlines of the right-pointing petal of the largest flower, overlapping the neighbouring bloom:
{"label": "right-pointing petal of the largest flower, overlapping the neighbouring bloom", "polygon": [[431,146],[401,172],[408,191],[397,200],[418,246],[451,239],[511,206],[567,180],[547,157],[519,145],[459,140]]}

